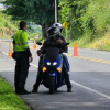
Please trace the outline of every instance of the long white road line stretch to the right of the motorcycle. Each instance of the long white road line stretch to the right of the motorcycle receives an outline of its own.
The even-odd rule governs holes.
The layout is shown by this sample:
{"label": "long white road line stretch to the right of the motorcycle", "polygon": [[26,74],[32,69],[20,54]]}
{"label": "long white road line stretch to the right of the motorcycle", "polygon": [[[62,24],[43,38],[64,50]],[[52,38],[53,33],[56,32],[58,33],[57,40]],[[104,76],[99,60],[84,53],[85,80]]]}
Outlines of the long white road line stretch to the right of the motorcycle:
{"label": "long white road line stretch to the right of the motorcycle", "polygon": [[106,94],[102,94],[102,92],[100,92],[100,91],[98,91],[98,90],[95,90],[95,89],[92,89],[92,88],[89,88],[89,87],[87,87],[87,86],[84,86],[84,85],[81,85],[81,84],[78,84],[78,82],[76,82],[76,81],[73,81],[73,80],[70,80],[70,81],[72,81],[72,84],[74,84],[74,85],[76,85],[76,86],[79,86],[79,87],[81,87],[81,88],[84,88],[84,89],[87,89],[87,90],[89,90],[89,91],[92,91],[92,92],[95,92],[95,94],[97,94],[97,95],[100,95],[101,97],[105,97],[105,98],[107,98],[107,99],[110,100],[110,96],[108,96],[108,95],[106,95]]}

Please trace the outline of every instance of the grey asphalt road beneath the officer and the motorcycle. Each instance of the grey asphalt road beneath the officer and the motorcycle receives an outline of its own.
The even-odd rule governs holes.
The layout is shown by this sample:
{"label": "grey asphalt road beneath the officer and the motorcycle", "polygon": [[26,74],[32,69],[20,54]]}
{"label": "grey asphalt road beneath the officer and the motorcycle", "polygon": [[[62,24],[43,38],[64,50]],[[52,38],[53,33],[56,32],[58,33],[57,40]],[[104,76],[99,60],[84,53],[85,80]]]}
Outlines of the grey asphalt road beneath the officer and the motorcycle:
{"label": "grey asphalt road beneath the officer and the motorcycle", "polygon": [[[36,51],[31,51],[34,57],[31,63],[26,89],[32,90],[36,79],[38,57]],[[9,82],[14,82],[15,62],[8,58],[9,45],[2,44],[2,57],[0,56],[0,75]],[[66,92],[63,86],[54,95],[41,85],[38,94],[20,96],[34,110],[110,110],[110,52],[78,48],[79,57],[73,57],[69,48],[70,80],[73,92]]]}

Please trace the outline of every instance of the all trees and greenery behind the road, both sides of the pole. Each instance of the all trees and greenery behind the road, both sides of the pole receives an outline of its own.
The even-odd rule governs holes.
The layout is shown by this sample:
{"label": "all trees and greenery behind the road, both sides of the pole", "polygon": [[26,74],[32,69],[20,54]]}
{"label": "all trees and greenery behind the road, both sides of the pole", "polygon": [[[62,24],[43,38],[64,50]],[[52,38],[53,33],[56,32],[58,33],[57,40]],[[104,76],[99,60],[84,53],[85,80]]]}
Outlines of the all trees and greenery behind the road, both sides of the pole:
{"label": "all trees and greenery behind the road, both sides of the pole", "polygon": [[[37,34],[42,36],[41,26],[36,24],[42,25],[45,36],[47,28],[54,23],[54,0],[19,0],[18,2],[6,0],[4,4],[11,6],[6,13],[12,15],[15,21],[25,19],[34,22],[29,30],[31,37]],[[1,16],[2,13],[0,13]],[[11,32],[16,30],[9,16],[0,20],[0,30],[2,28]],[[72,46],[74,41],[77,41],[79,47],[110,50],[110,0],[58,0],[58,22],[65,21],[67,30],[64,29],[63,35],[66,36],[67,31],[67,41]]]}

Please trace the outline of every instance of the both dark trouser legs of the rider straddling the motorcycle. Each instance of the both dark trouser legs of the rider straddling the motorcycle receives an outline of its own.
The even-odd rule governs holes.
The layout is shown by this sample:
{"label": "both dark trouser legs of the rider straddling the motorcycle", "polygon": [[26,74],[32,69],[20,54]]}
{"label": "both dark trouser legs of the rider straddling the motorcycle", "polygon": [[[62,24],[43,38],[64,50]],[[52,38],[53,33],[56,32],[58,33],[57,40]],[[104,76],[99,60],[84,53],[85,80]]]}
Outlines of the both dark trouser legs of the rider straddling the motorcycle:
{"label": "both dark trouser legs of the rider straddling the motorcycle", "polygon": [[[70,86],[70,79],[69,79],[69,74],[68,74],[68,70],[69,70],[69,63],[68,63],[68,59],[67,59],[67,56],[66,55],[63,55],[63,76],[65,78],[65,82],[67,85],[67,87]],[[40,62],[38,62],[38,75],[37,75],[37,78],[36,78],[36,82],[34,85],[34,89],[38,88],[40,86],[40,82],[42,81],[43,79],[43,74],[42,74],[42,63],[43,63],[43,56],[40,57]]]}

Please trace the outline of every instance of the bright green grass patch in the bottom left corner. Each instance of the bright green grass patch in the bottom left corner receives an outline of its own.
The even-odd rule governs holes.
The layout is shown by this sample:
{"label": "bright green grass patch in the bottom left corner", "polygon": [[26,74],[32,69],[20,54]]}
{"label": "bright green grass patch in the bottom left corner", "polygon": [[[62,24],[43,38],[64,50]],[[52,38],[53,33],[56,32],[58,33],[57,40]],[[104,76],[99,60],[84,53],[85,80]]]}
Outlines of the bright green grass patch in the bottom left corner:
{"label": "bright green grass patch in the bottom left corner", "polygon": [[0,110],[31,110],[14,92],[13,88],[0,76]]}

